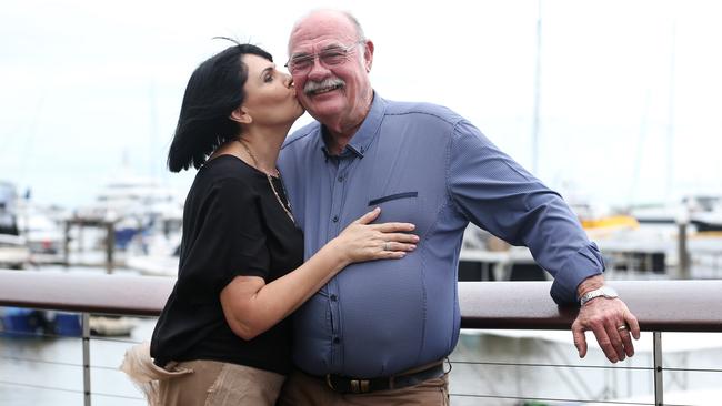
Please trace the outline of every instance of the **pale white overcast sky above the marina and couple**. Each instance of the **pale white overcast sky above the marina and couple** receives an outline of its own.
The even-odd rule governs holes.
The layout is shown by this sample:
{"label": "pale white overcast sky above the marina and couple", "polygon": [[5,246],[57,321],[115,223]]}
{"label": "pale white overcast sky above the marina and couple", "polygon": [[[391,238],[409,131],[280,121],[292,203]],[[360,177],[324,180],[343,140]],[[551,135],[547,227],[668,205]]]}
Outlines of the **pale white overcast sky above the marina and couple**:
{"label": "pale white overcast sky above the marina and couple", "polygon": [[722,6],[712,0],[8,0],[0,180],[73,206],[127,164],[184,194],[193,172],[169,173],[166,152],[190,73],[228,45],[211,38],[257,43],[282,65],[293,22],[329,4],[374,41],[379,94],[455,110],[565,195],[722,194]]}

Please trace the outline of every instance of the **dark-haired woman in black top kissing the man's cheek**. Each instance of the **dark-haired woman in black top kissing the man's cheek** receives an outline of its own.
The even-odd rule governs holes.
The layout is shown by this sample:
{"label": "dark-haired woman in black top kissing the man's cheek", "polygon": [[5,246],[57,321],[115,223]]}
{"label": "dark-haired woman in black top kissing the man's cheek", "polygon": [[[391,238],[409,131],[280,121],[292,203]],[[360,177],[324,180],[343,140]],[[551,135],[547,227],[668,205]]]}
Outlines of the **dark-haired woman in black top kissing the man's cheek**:
{"label": "dark-haired woman in black top kissing the man's cheek", "polygon": [[168,155],[173,172],[199,169],[178,281],[153,332],[153,364],[139,346],[123,365],[151,404],[273,405],[291,368],[287,317],[350,263],[415,248],[412,224],[370,224],[377,209],[302,263],[275,169],[302,113],[290,77],[258,47],[231,47],[191,75]]}

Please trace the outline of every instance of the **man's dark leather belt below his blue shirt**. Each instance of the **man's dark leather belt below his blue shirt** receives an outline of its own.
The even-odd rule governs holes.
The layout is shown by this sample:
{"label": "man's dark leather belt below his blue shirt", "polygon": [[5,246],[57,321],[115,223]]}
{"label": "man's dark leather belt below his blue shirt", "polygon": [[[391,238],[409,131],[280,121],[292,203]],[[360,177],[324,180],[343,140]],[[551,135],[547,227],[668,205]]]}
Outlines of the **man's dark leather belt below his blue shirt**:
{"label": "man's dark leather belt below his blue shirt", "polygon": [[424,380],[438,378],[444,374],[443,362],[409,369],[398,375],[380,378],[353,378],[342,375],[327,374],[321,377],[325,384],[340,394],[368,394],[378,390],[400,389],[418,385]]}

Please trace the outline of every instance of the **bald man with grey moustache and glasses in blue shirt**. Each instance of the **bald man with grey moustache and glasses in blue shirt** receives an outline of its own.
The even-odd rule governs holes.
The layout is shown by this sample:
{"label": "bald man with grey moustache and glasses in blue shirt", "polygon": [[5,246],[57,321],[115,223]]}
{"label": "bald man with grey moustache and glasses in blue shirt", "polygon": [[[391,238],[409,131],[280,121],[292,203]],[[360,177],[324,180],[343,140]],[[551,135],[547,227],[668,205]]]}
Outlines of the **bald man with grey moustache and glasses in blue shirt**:
{"label": "bald man with grey moustache and glasses in blue shirt", "polygon": [[603,286],[599,250],[562,199],[450,110],[382,99],[369,79],[373,47],[348,13],[297,22],[288,68],[318,122],[287,140],[279,164],[307,257],[373,206],[379,221],[414,223],[421,241],[401,261],[349,266],[299,309],[300,371],[281,404],[445,404],[441,362],[459,336],[457,266],[470,221],[529,246],[554,275],[554,301],[583,297],[572,327],[580,356],[588,329],[611,362],[633,355],[636,319]]}

